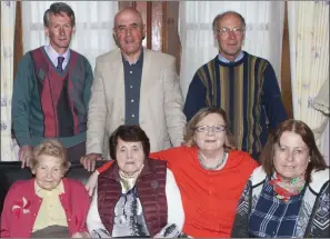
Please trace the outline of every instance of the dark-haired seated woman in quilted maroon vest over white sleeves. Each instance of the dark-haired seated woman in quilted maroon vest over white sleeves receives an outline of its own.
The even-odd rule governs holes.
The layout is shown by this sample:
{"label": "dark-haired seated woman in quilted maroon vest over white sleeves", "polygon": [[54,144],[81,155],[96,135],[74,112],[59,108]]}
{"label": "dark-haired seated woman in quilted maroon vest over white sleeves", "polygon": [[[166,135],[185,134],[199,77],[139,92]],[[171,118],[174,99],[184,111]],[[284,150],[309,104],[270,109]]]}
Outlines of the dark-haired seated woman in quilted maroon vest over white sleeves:
{"label": "dark-haired seated woman in quilted maroon vest over white sleeves", "polygon": [[116,160],[98,178],[87,226],[92,238],[174,238],[184,212],[166,161],[149,159],[150,142],[139,126],[120,126],[110,137]]}

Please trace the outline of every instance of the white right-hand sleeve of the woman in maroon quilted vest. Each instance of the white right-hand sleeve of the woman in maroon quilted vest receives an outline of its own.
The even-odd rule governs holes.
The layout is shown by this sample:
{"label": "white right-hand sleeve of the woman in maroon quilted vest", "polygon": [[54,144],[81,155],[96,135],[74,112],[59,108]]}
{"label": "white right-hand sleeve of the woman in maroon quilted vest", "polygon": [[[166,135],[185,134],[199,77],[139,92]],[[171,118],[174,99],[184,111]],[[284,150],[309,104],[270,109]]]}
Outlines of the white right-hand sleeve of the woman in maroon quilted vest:
{"label": "white right-hand sleeve of the woman in maroon quilted vest", "polygon": [[181,201],[180,190],[174,176],[167,169],[166,195],[168,203],[168,223],[156,236],[157,238],[177,238],[183,228],[184,211]]}

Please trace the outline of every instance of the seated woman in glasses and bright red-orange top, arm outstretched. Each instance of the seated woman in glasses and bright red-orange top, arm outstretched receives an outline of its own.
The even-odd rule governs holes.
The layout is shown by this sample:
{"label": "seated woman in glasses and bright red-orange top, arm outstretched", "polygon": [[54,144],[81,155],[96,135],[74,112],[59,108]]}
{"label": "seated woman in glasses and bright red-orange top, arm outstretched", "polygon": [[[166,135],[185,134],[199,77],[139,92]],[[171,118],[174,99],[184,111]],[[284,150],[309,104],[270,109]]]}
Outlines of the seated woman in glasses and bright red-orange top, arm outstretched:
{"label": "seated woman in glasses and bright red-orange top, arm outstretched", "polygon": [[[229,238],[240,195],[258,165],[249,153],[234,150],[226,112],[201,109],[188,122],[182,147],[150,153],[150,158],[166,160],[176,177],[186,215],[182,231],[197,238]],[[94,172],[89,190],[97,178]]]}

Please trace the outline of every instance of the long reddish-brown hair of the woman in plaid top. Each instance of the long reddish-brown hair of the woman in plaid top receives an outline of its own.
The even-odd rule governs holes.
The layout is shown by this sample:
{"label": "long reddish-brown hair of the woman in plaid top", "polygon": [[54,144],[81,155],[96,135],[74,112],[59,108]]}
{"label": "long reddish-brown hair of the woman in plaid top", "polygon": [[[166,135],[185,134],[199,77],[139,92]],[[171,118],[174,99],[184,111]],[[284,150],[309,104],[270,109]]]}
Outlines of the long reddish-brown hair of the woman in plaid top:
{"label": "long reddish-brown hair of the woman in plaid top", "polygon": [[283,132],[294,132],[299,135],[302,141],[307,145],[309,149],[310,162],[308,163],[306,170],[307,182],[311,181],[311,171],[312,170],[323,170],[327,168],[326,160],[320,153],[318,146],[316,143],[316,138],[312,130],[301,120],[289,119],[280,123],[273,135],[270,135],[266,146],[263,147],[260,153],[260,162],[263,170],[268,177],[271,177],[274,172],[273,156],[274,156],[274,146],[280,145],[280,139]]}

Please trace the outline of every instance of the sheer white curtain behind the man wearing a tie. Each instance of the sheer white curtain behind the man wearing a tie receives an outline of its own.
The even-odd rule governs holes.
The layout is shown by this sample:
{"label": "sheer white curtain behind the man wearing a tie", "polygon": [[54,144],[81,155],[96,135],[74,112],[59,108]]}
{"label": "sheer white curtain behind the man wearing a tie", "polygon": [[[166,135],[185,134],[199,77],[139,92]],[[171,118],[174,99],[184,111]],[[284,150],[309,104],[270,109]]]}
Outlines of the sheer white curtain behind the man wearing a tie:
{"label": "sheer white curtain behind the man wearing a tie", "polygon": [[[24,52],[48,44],[43,13],[56,1],[22,1]],[[96,58],[117,48],[112,38],[118,1],[63,1],[76,14],[76,34],[71,49],[87,57],[94,70]]]}

